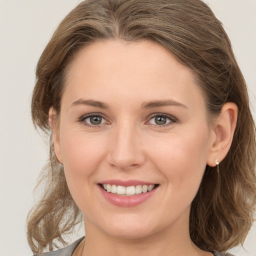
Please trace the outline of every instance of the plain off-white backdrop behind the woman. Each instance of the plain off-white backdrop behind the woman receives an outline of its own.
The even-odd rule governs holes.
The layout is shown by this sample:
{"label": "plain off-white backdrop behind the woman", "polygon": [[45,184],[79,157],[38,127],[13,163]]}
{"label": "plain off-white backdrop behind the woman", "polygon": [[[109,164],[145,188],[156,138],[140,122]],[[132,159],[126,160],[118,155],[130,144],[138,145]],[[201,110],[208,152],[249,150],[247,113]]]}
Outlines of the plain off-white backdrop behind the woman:
{"label": "plain off-white backdrop behind the woman", "polygon": [[[256,0],[205,0],[224,24],[256,107]],[[26,215],[47,159],[30,120],[34,70],[59,21],[80,0],[0,0],[0,256],[32,255]],[[254,110],[253,110],[254,115]],[[81,228],[70,242],[83,234]],[[256,256],[256,225],[236,256]]]}

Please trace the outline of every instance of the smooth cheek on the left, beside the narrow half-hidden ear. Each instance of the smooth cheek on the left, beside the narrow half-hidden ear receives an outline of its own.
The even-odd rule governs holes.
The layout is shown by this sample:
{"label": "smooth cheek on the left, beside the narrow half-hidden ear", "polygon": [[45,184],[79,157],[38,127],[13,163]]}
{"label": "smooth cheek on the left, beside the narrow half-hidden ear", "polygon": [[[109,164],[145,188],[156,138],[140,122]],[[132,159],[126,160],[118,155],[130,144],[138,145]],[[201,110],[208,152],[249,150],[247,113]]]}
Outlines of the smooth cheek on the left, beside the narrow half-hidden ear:
{"label": "smooth cheek on the left, beside the narrow half-hidden ear", "polygon": [[[95,174],[102,162],[104,144],[101,137],[76,132],[74,129],[62,129],[60,146],[64,173],[68,189],[83,213],[90,212],[87,203],[94,198]],[[86,213],[86,214],[87,214]]]}

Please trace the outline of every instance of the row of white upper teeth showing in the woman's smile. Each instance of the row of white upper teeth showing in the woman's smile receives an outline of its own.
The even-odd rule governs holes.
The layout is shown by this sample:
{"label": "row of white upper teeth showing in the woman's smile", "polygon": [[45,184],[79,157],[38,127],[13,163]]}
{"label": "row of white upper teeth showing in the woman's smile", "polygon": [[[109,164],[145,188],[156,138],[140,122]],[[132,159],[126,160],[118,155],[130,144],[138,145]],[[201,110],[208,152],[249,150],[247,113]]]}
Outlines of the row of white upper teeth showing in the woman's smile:
{"label": "row of white upper teeth showing in the woman's smile", "polygon": [[151,191],[155,185],[136,185],[136,186],[117,186],[110,184],[102,184],[103,188],[107,192],[120,194],[120,195],[133,195],[133,194],[141,194]]}

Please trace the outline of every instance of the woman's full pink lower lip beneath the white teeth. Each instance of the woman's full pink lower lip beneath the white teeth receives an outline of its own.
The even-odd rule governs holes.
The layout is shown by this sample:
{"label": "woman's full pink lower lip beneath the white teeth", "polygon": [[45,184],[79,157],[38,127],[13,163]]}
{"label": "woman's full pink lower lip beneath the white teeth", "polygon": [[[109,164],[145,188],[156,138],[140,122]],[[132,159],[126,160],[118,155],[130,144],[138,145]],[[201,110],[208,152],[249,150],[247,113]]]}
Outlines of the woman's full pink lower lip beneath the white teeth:
{"label": "woman's full pink lower lip beneath the white teeth", "polygon": [[99,185],[100,191],[102,192],[103,196],[106,198],[107,201],[110,203],[120,206],[120,207],[133,207],[136,206],[147,199],[149,199],[155,190],[157,188],[153,188],[151,191],[148,191],[146,193],[140,193],[140,194],[135,194],[135,195],[117,195],[113,194],[111,192],[107,192],[104,190],[101,185]]}

